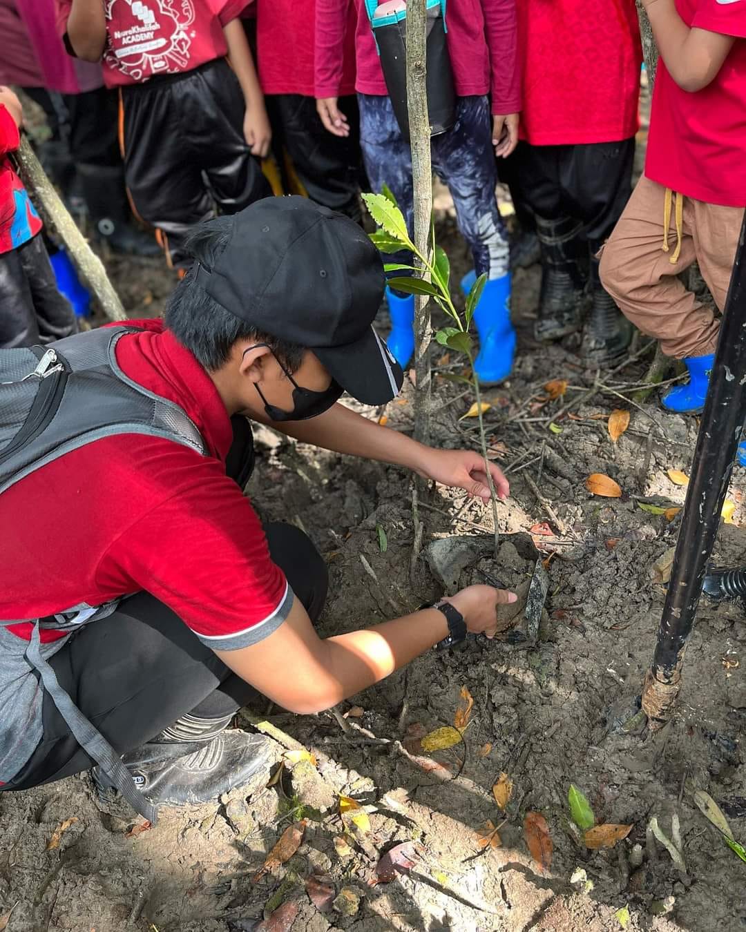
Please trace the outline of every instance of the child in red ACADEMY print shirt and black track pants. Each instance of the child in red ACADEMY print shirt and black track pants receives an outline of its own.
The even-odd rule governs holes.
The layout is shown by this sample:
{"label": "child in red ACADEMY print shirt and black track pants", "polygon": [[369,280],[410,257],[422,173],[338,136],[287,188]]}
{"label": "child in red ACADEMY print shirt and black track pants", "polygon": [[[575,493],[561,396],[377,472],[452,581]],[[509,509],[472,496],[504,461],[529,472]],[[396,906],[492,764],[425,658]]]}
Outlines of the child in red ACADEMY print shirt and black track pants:
{"label": "child in red ACADEMY print shirt and black track pants", "polygon": [[[255,157],[269,120],[238,19],[246,0],[57,0],[65,45],[102,59],[120,93],[119,142],[136,211],[169,263],[185,267],[187,230],[268,197]],[[226,61],[226,55],[230,64]]]}

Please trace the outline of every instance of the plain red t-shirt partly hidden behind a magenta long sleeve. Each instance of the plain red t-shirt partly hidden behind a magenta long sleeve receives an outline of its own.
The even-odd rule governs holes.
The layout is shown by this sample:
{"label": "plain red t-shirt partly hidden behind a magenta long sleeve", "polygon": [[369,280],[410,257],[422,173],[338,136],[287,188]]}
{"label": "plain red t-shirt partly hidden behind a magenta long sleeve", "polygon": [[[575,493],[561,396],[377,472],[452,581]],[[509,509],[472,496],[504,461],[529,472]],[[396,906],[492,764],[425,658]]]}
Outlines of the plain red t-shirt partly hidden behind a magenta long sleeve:
{"label": "plain red t-shirt partly hidden behind a magenta long sleeve", "polygon": [[[315,0],[256,0],[256,58],[259,83],[265,94],[314,96],[313,47],[316,20]],[[328,97],[354,93],[355,11],[350,5],[338,89]]]}

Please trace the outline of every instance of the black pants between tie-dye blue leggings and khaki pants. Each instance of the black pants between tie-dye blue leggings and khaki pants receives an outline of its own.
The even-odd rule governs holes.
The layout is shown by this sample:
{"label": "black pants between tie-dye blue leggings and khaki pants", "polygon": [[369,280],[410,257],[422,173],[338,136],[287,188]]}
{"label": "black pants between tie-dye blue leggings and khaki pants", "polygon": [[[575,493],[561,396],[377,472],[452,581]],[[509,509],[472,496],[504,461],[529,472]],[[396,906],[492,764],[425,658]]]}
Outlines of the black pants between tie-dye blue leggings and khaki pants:
{"label": "black pants between tie-dye blue leggings and khaki pants", "polygon": [[632,191],[634,137],[620,143],[531,145],[519,143],[510,157],[511,189],[545,220],[570,218],[585,227],[600,248]]}

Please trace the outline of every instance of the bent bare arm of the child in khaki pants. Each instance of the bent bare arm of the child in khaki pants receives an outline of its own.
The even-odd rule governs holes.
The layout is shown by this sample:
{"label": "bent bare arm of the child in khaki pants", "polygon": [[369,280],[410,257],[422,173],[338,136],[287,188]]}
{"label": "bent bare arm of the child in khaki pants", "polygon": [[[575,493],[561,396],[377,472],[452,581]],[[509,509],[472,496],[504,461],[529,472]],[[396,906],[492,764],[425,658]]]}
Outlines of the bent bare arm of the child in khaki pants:
{"label": "bent bare arm of the child in khaki pants", "polygon": [[642,5],[673,80],[691,92],[706,88],[723,67],[735,38],[690,29],[677,13],[674,0],[642,0]]}

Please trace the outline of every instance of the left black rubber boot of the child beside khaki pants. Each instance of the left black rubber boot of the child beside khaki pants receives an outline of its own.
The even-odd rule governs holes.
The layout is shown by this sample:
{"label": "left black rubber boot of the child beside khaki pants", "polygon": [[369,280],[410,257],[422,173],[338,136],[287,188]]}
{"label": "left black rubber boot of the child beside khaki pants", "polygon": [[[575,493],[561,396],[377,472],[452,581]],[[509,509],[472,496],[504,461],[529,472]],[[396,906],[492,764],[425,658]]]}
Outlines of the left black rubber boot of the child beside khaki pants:
{"label": "left black rubber boot of the child beside khaki pants", "polygon": [[572,219],[536,217],[542,255],[539,318],[533,325],[537,340],[557,340],[580,329],[585,303],[582,257],[587,249],[582,224]]}

